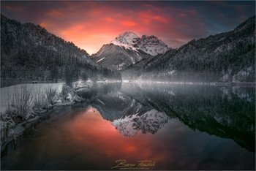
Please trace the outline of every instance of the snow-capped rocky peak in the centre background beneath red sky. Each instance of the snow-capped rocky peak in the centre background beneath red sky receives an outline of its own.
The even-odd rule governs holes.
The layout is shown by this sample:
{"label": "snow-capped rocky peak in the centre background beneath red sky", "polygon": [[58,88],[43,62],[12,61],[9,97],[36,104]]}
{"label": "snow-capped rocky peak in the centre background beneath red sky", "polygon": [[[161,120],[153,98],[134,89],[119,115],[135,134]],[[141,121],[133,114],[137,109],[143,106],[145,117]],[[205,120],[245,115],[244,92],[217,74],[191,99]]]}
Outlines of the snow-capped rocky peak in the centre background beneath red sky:
{"label": "snow-capped rocky peak in the centre background beneath red sky", "polygon": [[103,45],[92,55],[92,60],[109,69],[125,69],[144,58],[153,58],[165,53],[170,48],[157,37],[138,37],[133,32],[124,32],[113,39],[110,44]]}

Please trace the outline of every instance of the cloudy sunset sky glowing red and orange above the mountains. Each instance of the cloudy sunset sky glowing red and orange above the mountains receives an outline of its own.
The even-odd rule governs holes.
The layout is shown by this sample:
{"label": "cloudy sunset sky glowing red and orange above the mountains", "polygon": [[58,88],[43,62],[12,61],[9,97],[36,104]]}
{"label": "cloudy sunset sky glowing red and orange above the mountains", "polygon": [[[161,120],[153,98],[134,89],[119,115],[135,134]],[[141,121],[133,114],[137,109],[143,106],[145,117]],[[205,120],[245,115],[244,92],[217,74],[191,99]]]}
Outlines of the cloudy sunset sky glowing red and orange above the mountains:
{"label": "cloudy sunset sky glowing red and orange above the mountains", "polygon": [[1,1],[1,13],[92,54],[125,31],[173,48],[231,31],[255,15],[255,1]]}

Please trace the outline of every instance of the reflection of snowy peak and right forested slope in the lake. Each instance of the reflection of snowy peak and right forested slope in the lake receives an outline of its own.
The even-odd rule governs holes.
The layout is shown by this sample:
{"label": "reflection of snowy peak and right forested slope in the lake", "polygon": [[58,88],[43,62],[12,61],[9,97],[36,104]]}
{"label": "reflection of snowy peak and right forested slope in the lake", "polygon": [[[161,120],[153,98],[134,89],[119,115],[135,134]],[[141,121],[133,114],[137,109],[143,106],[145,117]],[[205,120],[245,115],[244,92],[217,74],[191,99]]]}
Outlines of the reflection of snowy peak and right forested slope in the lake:
{"label": "reflection of snowy peak and right forested slope in the lake", "polygon": [[154,134],[169,118],[177,118],[193,130],[232,139],[255,151],[255,88],[147,84],[113,88],[94,96],[91,105],[124,136],[132,137],[138,130]]}

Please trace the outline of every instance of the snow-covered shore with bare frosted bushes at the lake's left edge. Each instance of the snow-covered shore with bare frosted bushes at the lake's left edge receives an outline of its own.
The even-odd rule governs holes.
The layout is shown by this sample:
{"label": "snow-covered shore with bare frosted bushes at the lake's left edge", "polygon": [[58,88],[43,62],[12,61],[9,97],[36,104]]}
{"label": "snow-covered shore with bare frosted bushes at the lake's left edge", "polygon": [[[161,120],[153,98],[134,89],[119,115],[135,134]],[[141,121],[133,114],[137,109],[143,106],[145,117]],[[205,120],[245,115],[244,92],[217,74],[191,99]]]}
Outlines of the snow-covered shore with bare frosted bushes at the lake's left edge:
{"label": "snow-covered shore with bare frosted bushes at the lake's left edge", "polygon": [[1,151],[23,134],[25,124],[36,121],[55,106],[83,102],[75,88],[89,88],[86,82],[20,84],[1,88]]}

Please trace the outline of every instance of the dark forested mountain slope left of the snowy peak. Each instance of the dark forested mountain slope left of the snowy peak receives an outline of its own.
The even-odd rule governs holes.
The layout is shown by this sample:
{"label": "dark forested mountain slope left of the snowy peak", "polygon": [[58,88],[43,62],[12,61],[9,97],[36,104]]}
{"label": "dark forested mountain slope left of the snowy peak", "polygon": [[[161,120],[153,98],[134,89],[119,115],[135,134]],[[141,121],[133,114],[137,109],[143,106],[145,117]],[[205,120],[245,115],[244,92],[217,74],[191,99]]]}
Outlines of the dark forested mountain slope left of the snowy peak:
{"label": "dark forested mountain slope left of the snowy peak", "polygon": [[33,23],[20,23],[1,14],[1,79],[101,80],[121,78],[96,66],[86,50]]}

